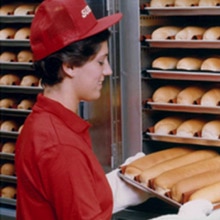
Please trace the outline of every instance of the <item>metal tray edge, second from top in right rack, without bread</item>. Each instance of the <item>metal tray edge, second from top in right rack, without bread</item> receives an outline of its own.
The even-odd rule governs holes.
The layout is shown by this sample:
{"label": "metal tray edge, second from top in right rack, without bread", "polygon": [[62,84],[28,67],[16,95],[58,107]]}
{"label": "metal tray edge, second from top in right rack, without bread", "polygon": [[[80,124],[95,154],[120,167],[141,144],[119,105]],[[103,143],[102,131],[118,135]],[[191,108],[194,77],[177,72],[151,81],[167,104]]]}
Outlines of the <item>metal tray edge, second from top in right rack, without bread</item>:
{"label": "metal tray edge, second from top in right rack, without bread", "polygon": [[207,40],[145,40],[144,45],[159,48],[209,48],[220,49],[220,41]]}

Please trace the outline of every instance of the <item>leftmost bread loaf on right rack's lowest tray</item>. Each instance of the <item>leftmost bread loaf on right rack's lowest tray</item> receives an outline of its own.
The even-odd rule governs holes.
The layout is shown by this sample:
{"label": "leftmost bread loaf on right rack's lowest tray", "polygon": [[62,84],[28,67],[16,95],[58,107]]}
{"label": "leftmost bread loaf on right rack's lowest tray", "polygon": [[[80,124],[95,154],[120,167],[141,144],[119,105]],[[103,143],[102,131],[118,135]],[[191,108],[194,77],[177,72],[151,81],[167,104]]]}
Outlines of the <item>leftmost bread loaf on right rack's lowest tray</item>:
{"label": "leftmost bread loaf on right rack's lowest tray", "polygon": [[184,119],[181,117],[170,116],[163,118],[154,125],[154,133],[160,135],[176,133],[176,129],[183,121]]}

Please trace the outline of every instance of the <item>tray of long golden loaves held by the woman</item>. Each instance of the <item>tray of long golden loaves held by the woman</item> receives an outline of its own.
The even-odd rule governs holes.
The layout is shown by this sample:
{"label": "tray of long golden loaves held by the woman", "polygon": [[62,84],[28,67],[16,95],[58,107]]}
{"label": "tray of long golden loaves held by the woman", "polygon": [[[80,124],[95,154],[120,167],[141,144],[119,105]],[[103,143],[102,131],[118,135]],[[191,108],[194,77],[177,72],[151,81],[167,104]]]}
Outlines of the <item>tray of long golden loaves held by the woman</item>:
{"label": "tray of long golden loaves held by the woman", "polygon": [[211,149],[172,147],[122,165],[127,183],[174,206],[194,199],[220,202],[220,155]]}

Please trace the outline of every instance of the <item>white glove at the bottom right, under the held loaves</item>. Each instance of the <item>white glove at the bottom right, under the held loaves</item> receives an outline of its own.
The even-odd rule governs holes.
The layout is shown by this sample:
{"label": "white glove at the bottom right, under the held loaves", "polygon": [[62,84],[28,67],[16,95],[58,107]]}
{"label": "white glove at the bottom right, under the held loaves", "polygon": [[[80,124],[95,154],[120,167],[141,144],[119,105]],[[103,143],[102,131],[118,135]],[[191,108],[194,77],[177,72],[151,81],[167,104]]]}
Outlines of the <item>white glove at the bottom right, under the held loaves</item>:
{"label": "white glove at the bottom right, under the held loaves", "polygon": [[[179,208],[176,215],[163,215],[151,220],[218,220],[220,218],[210,218],[213,205],[208,200],[193,200],[185,203]],[[218,213],[219,216],[220,213]]]}

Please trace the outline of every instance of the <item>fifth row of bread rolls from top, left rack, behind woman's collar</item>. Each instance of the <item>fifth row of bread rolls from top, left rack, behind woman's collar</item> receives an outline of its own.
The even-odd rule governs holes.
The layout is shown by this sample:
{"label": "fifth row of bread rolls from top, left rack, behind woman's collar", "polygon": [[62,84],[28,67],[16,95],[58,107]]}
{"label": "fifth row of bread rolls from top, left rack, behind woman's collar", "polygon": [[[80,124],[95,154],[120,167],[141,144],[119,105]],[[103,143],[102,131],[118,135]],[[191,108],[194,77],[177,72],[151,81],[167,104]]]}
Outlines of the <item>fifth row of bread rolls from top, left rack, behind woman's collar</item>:
{"label": "fifth row of bread rolls from top, left rack, behind woman's collar", "polygon": [[26,98],[20,101],[14,98],[3,98],[0,99],[0,108],[14,108],[22,110],[31,110],[34,106],[35,100]]}

